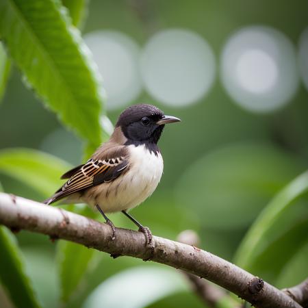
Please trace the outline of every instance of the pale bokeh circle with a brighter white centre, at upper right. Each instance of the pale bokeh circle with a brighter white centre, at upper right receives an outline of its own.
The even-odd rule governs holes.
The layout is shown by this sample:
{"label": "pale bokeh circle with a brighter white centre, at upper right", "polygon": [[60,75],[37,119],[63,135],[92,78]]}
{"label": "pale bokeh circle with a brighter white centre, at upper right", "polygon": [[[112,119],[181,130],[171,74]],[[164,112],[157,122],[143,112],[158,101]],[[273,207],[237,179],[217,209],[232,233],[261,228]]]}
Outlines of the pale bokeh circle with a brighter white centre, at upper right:
{"label": "pale bokeh circle with a brighter white centre, at upper right", "polygon": [[235,103],[252,112],[272,112],[290,101],[298,88],[294,47],[276,29],[246,27],[224,46],[221,75]]}

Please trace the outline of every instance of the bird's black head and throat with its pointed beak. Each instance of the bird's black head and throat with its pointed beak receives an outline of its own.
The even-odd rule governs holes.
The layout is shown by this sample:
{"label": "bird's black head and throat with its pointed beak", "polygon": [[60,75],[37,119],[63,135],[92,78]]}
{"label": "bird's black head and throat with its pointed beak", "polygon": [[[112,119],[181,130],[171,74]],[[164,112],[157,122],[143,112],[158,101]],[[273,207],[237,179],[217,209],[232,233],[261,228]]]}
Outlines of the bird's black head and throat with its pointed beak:
{"label": "bird's black head and throat with its pointed beak", "polygon": [[120,114],[116,127],[121,127],[127,144],[157,144],[165,124],[179,118],[165,116],[153,105],[132,105]]}

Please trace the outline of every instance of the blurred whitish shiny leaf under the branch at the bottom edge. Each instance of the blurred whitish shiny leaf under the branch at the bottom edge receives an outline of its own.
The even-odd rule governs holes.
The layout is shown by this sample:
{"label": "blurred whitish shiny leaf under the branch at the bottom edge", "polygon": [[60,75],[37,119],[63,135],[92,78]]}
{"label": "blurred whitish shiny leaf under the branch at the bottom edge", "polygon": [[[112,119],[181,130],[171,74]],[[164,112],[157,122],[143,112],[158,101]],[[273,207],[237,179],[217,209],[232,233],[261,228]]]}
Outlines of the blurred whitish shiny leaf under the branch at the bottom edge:
{"label": "blurred whitish shiny leaf under the branch at the bottom edge", "polygon": [[123,298],[125,307],[147,307],[160,298],[187,289],[185,278],[179,272],[162,266],[138,266],[101,283],[82,307],[99,307],[101,303],[104,307],[123,307]]}

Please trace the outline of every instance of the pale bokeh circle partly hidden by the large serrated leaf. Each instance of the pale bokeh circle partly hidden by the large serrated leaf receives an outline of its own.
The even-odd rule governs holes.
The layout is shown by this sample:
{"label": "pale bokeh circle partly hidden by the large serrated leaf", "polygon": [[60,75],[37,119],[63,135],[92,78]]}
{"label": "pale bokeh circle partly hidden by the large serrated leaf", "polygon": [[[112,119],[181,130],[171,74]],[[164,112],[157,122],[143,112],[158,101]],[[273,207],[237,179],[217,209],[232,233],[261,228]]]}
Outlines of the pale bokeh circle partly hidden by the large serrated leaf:
{"label": "pale bokeh circle partly hidden by the large serrated leaf", "polygon": [[114,110],[137,99],[142,90],[140,49],[118,31],[94,31],[84,37],[103,76],[107,109]]}

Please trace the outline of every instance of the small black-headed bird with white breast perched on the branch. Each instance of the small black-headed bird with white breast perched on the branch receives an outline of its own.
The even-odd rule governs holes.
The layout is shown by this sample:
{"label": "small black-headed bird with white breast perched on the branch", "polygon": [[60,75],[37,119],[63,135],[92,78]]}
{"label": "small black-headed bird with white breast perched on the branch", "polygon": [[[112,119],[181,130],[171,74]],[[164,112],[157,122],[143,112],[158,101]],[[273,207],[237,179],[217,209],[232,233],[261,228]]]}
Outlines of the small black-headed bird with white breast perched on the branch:
{"label": "small black-headed bird with white breast perched on the branch", "polygon": [[132,105],[120,114],[110,140],[103,143],[86,162],[69,170],[61,179],[62,187],[44,201],[51,204],[87,203],[98,209],[112,227],[105,213],[122,211],[146,237],[151,231],[127,213],[151,196],[162,177],[164,162],[157,146],[165,124],[179,122],[175,116],[165,116],[153,105]]}

